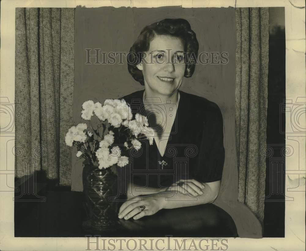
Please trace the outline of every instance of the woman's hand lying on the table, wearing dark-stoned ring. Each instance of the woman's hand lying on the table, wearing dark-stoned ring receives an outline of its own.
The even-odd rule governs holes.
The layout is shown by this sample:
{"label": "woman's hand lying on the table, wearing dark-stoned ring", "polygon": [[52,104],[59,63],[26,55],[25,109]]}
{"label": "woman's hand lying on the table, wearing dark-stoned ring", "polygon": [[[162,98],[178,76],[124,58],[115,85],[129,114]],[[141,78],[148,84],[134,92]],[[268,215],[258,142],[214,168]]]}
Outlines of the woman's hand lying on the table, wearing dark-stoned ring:
{"label": "woman's hand lying on the table, wearing dark-stoned ring", "polygon": [[[132,198],[121,205],[118,213],[119,219],[124,218],[128,220],[133,217],[134,220],[137,220],[143,216],[153,215],[162,209],[160,200],[164,198],[153,194],[145,197],[137,197],[137,199]],[[141,206],[145,206],[143,211],[140,210]]]}

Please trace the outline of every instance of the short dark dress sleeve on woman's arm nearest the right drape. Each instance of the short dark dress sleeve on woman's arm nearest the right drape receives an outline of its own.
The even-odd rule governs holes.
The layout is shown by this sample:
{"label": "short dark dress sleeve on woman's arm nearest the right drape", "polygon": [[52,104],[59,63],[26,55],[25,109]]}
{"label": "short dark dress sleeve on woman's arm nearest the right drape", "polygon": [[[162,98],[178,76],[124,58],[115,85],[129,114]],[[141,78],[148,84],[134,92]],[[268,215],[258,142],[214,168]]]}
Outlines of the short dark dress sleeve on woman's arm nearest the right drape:
{"label": "short dark dress sleeve on woman's arm nearest the right drape", "polygon": [[200,182],[214,182],[222,178],[225,159],[223,118],[218,105],[212,102],[203,113],[203,134],[193,175]]}

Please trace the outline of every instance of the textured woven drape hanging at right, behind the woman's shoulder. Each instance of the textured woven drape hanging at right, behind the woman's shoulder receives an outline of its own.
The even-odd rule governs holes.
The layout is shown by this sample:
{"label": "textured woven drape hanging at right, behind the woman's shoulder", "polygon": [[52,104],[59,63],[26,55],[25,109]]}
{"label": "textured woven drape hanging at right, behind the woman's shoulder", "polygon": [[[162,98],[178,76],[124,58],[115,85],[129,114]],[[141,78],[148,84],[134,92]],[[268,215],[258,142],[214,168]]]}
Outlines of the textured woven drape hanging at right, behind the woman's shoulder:
{"label": "textured woven drape hanging at right, behind the woman's shoulder", "polygon": [[238,201],[263,223],[268,88],[268,8],[237,8],[236,145]]}

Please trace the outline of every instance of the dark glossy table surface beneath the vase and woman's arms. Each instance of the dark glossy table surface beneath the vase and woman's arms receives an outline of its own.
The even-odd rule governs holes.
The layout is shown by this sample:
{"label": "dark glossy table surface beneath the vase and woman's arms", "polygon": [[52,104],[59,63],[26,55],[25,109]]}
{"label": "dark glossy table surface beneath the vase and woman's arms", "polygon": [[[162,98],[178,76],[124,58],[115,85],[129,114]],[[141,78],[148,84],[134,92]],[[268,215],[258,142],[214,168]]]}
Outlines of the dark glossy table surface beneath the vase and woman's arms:
{"label": "dark glossy table surface beneath the vase and woman's arms", "polygon": [[45,201],[15,199],[15,237],[238,237],[230,215],[213,204],[162,209],[139,220],[118,219],[120,227],[114,231],[91,232],[82,227],[82,192],[44,195]]}

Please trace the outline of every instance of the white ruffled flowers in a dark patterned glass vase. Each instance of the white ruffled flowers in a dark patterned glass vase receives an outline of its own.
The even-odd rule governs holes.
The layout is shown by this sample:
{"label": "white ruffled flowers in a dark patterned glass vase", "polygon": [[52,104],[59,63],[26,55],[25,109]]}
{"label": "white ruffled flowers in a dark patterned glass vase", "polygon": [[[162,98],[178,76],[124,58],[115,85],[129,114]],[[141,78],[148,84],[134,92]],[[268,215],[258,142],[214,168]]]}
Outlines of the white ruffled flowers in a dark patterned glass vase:
{"label": "white ruffled flowers in a dark patterned glass vase", "polygon": [[[129,164],[130,150],[141,148],[140,139],[153,144],[154,130],[147,117],[136,113],[133,119],[124,99],[106,99],[104,105],[88,100],[82,108],[81,117],[89,127],[87,123],[71,127],[65,142],[77,148],[76,157],[84,158],[83,193],[89,220],[83,226],[111,230],[118,227],[118,187],[122,181],[117,170]],[[94,119],[96,126],[92,125]]]}

